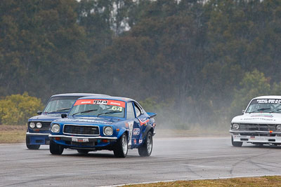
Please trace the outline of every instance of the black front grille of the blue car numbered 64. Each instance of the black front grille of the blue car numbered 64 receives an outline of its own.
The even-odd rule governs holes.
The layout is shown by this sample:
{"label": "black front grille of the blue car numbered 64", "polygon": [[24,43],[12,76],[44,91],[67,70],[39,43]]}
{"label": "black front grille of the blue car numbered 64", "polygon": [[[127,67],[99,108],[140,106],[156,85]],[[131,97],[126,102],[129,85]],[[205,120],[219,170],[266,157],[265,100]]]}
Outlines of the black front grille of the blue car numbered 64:
{"label": "black front grille of the blue car numbered 64", "polygon": [[79,135],[99,135],[98,126],[93,125],[64,125],[63,133]]}

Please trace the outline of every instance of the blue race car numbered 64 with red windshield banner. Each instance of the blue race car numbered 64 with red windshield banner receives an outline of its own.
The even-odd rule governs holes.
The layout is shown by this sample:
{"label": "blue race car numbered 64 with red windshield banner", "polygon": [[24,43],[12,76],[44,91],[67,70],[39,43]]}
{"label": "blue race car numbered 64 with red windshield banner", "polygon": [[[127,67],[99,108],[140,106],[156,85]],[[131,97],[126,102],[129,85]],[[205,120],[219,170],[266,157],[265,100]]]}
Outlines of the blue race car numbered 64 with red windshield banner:
{"label": "blue race car numbered 64 with red windshield banner", "polygon": [[54,120],[50,128],[50,152],[63,153],[64,148],[79,153],[110,150],[125,158],[128,148],[138,148],[141,156],[152,152],[156,113],[146,113],[133,99],[124,97],[82,97],[68,116]]}

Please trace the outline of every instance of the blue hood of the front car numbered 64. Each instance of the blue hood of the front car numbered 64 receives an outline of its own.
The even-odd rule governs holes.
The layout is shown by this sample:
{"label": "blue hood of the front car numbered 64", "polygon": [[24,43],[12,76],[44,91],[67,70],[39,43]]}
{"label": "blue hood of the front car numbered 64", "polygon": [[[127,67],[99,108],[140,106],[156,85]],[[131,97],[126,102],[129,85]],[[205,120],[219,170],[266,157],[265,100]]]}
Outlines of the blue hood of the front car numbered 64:
{"label": "blue hood of the front car numbered 64", "polygon": [[98,117],[79,117],[79,118],[62,118],[55,120],[54,123],[67,123],[67,124],[79,124],[79,125],[112,125],[122,121],[119,118],[98,118]]}

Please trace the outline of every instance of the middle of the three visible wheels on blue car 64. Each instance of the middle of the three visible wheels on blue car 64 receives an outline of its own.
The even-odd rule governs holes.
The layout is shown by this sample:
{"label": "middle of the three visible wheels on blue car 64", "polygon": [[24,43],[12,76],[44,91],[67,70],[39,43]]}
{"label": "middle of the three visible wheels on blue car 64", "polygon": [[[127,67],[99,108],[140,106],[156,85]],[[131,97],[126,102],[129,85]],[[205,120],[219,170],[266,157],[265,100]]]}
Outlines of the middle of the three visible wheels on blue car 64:
{"label": "middle of the three visible wheels on blue car 64", "polygon": [[115,148],[113,149],[113,153],[117,158],[126,157],[128,153],[128,137],[126,133],[122,134],[122,136],[117,140]]}

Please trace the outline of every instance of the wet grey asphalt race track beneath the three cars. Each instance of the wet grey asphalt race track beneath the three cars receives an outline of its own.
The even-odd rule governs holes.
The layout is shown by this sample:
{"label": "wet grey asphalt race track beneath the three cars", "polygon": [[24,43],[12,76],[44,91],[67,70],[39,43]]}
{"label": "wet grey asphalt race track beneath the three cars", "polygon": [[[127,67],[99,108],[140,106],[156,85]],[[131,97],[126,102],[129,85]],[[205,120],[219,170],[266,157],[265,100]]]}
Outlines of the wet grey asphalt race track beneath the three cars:
{"label": "wet grey asphalt race track beneath the three cars", "polygon": [[231,146],[225,138],[154,139],[152,155],[111,151],[51,155],[25,144],[0,144],[0,186],[112,186],[152,181],[281,174],[281,146]]}

